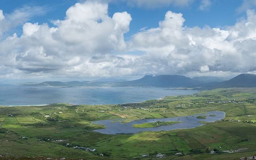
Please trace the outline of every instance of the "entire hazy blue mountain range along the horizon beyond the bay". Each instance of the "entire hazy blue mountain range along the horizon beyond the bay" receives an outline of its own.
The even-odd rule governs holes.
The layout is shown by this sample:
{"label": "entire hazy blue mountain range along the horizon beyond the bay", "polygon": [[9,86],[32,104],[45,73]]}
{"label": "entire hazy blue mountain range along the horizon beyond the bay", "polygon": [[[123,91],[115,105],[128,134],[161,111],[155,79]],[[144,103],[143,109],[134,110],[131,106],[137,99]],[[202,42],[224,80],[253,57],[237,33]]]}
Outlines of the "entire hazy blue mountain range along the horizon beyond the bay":
{"label": "entire hazy blue mountain range along the horizon beyond the bay", "polygon": [[[216,81],[214,81],[214,79]],[[56,86],[56,87],[75,87],[75,86],[154,86],[170,88],[194,88],[194,89],[215,89],[215,88],[233,88],[233,87],[256,87],[256,74],[240,74],[230,80],[219,82],[221,78],[197,77],[189,78],[180,75],[159,75],[144,76],[138,80],[119,80],[115,78],[103,78],[94,81],[46,81],[39,84],[30,84],[31,86]]]}

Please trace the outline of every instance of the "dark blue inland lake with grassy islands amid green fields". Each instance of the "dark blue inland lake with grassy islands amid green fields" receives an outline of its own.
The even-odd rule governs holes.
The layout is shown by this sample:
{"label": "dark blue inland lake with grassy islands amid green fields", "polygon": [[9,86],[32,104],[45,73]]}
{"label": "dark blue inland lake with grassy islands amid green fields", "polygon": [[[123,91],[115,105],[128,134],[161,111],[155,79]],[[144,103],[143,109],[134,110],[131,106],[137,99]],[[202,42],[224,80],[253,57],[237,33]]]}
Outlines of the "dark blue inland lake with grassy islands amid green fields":
{"label": "dark blue inland lake with grassy islands amid green fields", "polygon": [[[210,114],[215,114],[216,116],[209,116]],[[196,116],[206,116],[206,119],[198,119]],[[194,116],[182,116],[175,118],[156,118],[156,119],[143,119],[143,120],[134,120],[129,123],[122,124],[121,122],[112,122],[113,120],[99,120],[94,123],[102,124],[106,126],[104,129],[94,130],[103,134],[120,134],[120,133],[138,133],[142,131],[160,131],[160,130],[174,130],[174,129],[184,129],[184,128],[194,128],[197,126],[202,126],[204,124],[199,123],[198,121],[204,122],[214,122],[221,120],[225,117],[224,112],[213,111],[208,112],[207,114],[196,114]],[[133,128],[133,124],[142,124],[148,122],[156,121],[181,121],[181,123],[176,123],[173,125],[158,126],[154,128]]]}

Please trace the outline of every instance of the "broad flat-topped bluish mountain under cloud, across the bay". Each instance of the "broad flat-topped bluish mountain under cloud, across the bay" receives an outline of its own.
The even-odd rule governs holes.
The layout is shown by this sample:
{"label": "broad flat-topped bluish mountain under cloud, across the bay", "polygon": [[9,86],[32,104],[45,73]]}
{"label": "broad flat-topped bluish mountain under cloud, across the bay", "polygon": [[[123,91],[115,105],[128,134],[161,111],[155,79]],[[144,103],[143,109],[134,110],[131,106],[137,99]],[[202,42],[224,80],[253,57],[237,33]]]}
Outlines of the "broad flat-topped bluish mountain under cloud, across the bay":
{"label": "broad flat-topped bluish mountain under cloud, across the bay", "polygon": [[190,87],[200,82],[179,75],[144,76],[138,80],[117,82],[116,86]]}

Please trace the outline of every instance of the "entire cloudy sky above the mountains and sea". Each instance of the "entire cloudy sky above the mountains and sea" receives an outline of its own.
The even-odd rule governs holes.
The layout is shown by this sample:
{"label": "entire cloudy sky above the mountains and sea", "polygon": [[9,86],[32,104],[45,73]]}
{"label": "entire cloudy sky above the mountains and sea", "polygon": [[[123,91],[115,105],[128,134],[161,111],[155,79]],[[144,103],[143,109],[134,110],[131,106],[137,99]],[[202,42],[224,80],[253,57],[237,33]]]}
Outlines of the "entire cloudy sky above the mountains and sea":
{"label": "entire cloudy sky above the mountains and sea", "polygon": [[0,82],[256,73],[256,0],[1,0]]}

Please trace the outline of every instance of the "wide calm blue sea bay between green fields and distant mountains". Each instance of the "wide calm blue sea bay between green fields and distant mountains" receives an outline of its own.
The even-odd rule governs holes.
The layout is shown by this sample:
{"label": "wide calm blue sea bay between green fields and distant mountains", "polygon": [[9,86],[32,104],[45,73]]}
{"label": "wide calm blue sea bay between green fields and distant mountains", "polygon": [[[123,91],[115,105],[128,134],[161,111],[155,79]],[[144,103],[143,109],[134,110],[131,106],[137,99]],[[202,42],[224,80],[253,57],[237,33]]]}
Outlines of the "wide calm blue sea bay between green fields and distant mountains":
{"label": "wide calm blue sea bay between green fields and distant mountains", "polygon": [[154,87],[76,87],[57,88],[0,84],[0,105],[123,104],[164,96],[194,94],[191,90],[164,90]]}

